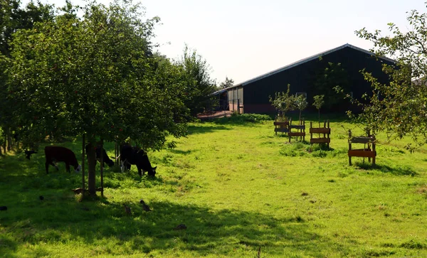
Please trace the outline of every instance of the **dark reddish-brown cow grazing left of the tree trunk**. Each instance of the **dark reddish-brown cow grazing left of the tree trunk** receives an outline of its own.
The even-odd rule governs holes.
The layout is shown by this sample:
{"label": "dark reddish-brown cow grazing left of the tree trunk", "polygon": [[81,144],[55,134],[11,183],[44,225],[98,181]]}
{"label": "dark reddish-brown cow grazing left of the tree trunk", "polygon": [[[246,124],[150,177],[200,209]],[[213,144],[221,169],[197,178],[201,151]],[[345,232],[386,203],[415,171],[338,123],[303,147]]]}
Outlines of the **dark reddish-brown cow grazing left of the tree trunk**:
{"label": "dark reddish-brown cow grazing left of the tree trunk", "polygon": [[45,155],[46,155],[46,173],[49,173],[49,165],[56,167],[58,171],[59,168],[53,162],[65,162],[65,168],[67,172],[70,173],[70,165],[74,167],[75,173],[79,173],[82,168],[78,162],[77,158],[75,158],[75,154],[70,149],[60,147],[60,146],[46,146],[45,147]]}

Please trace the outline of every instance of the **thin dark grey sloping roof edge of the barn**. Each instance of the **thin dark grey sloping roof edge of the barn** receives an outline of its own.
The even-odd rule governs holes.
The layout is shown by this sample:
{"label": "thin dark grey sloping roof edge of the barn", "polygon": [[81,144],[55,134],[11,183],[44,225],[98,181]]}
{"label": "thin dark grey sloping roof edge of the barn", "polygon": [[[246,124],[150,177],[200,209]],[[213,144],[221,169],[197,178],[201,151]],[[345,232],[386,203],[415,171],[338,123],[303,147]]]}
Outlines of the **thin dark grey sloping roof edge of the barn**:
{"label": "thin dark grey sloping roof edge of the barn", "polygon": [[[249,83],[256,82],[257,80],[261,80],[261,79],[263,79],[263,78],[265,78],[265,77],[268,77],[268,76],[271,76],[271,75],[275,75],[275,74],[276,74],[276,73],[278,73],[278,72],[283,72],[284,70],[288,70],[288,69],[293,68],[293,67],[295,67],[295,66],[297,66],[297,65],[301,65],[301,64],[303,64],[303,63],[310,62],[311,60],[315,60],[315,59],[319,58],[321,55],[327,55],[327,54],[333,53],[333,52],[335,52],[335,51],[337,51],[337,50],[342,50],[343,48],[353,48],[353,49],[355,49],[355,50],[359,50],[359,51],[364,52],[364,53],[367,53],[367,54],[369,54],[369,55],[375,55],[375,53],[372,53],[371,51],[364,50],[363,48],[357,48],[356,46],[354,46],[354,45],[350,45],[349,43],[347,43],[347,44],[344,44],[344,45],[340,45],[340,46],[339,46],[339,47],[337,47],[337,48],[332,48],[332,49],[327,50],[327,51],[325,51],[325,52],[318,53],[318,54],[316,54],[316,55],[312,55],[312,56],[310,56],[309,58],[304,58],[304,59],[299,60],[299,61],[297,61],[297,62],[295,62],[295,63],[291,63],[290,65],[283,66],[282,68],[279,68],[279,69],[273,70],[273,71],[271,71],[271,72],[267,72],[267,73],[265,73],[265,74],[263,74],[263,75],[260,75],[260,76],[258,76],[258,77],[254,77],[254,78],[252,78],[251,80],[246,80],[246,81],[241,82],[241,83],[238,83],[238,84],[236,84],[236,85],[233,85],[233,86],[230,86],[230,87],[226,87],[225,89],[222,89],[222,90],[221,90],[221,92],[222,92],[223,90],[228,90],[228,89],[231,89],[231,88],[233,88],[233,87],[238,87],[238,86],[245,86],[245,85],[248,85]],[[383,60],[387,60],[387,61],[389,61],[389,62],[391,62],[391,63],[396,63],[396,60],[393,60],[393,59],[390,59],[390,58],[386,58],[386,57],[380,57],[380,58],[381,58],[381,59],[383,59]],[[218,91],[218,92],[214,92],[214,94],[218,94],[218,93],[220,93],[220,91]]]}

